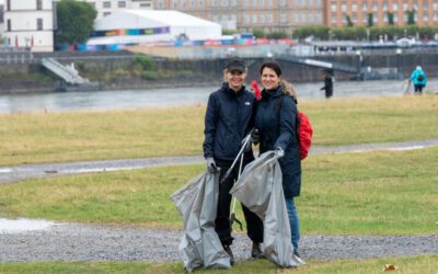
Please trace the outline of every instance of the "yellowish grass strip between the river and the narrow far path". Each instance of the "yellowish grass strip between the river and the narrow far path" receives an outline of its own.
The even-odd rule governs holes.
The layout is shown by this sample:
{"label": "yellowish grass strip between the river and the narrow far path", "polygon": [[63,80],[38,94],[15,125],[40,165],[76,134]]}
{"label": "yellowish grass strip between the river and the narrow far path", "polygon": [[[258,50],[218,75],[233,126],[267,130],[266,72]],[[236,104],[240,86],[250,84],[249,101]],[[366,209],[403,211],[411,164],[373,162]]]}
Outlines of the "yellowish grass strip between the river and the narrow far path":
{"label": "yellowish grass strip between the river and the narrow far path", "polygon": [[[438,96],[300,101],[313,145],[438,138]],[[201,155],[205,105],[0,115],[0,165]]]}

